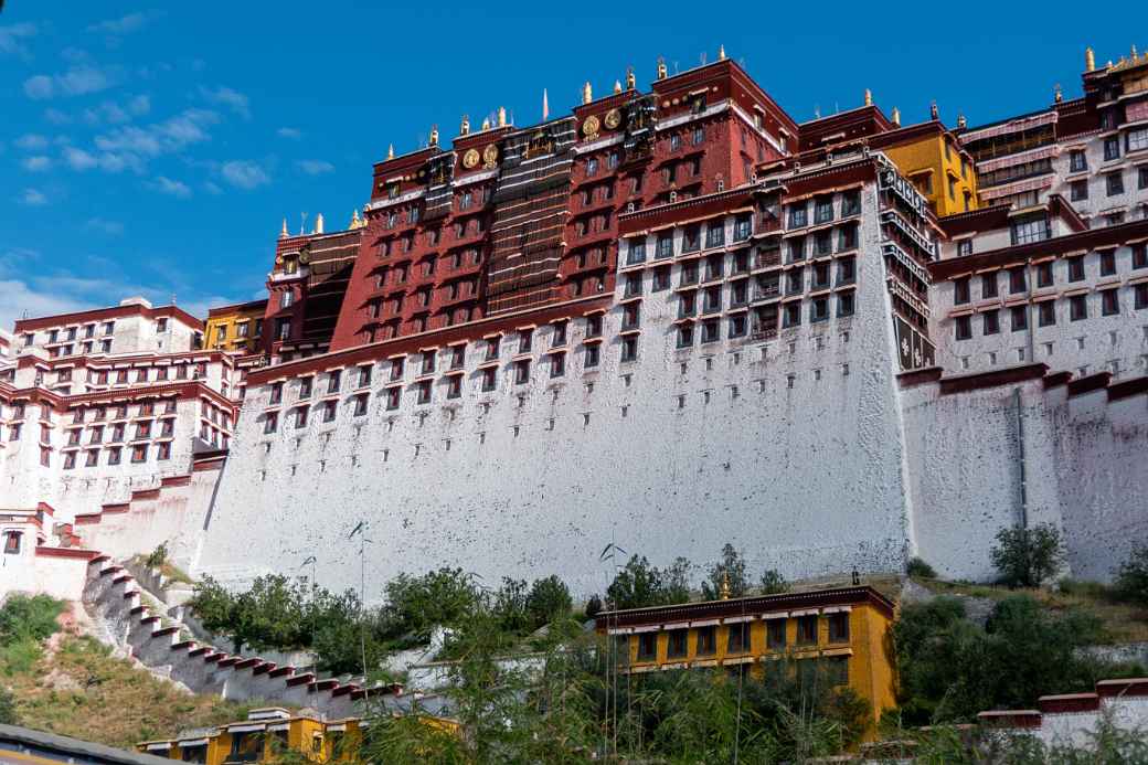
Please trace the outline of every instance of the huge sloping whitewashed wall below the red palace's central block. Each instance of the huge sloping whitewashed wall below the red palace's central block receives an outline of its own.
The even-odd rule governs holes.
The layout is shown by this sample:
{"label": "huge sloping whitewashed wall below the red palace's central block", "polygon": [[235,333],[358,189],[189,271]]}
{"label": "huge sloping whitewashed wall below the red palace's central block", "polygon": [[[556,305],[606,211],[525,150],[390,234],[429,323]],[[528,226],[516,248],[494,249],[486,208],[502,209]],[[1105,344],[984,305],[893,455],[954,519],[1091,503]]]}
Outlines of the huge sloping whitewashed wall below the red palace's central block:
{"label": "huge sloping whitewashed wall below the red palace's central block", "polygon": [[852,318],[804,323],[768,343],[678,350],[673,291],[651,294],[647,272],[635,362],[619,361],[615,304],[598,371],[583,369],[580,319],[564,377],[549,376],[544,326],[530,382],[513,384],[504,348],[490,394],[479,391],[475,345],[455,401],[440,381],[430,404],[416,405],[406,387],[387,411],[381,362],[365,416],[352,416],[344,389],[335,422],[313,408],[296,430],[290,380],[279,432],[264,435],[269,386],[250,387],[196,573],[238,584],[315,555],[320,585],[357,586],[348,535],[359,520],[370,524],[375,594],[400,572],[440,565],[491,585],[557,573],[579,594],[602,592],[610,542],[659,566],[707,563],[732,542],[751,569],[788,577],[900,570],[908,493],[871,184],[863,199]]}

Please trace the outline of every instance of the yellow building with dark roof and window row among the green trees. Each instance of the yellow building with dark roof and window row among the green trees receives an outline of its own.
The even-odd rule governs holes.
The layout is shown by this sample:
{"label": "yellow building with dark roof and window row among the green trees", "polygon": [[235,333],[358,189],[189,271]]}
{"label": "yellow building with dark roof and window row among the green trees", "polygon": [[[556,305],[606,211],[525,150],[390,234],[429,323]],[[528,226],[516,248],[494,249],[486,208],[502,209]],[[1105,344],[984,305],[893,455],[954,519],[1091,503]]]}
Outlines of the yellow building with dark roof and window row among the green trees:
{"label": "yellow building with dark roof and window row among the green trees", "polygon": [[799,670],[821,660],[835,685],[869,702],[876,722],[897,704],[894,613],[871,587],[845,587],[604,611],[595,619],[599,633],[615,636],[626,673],[748,665],[760,674],[781,659]]}

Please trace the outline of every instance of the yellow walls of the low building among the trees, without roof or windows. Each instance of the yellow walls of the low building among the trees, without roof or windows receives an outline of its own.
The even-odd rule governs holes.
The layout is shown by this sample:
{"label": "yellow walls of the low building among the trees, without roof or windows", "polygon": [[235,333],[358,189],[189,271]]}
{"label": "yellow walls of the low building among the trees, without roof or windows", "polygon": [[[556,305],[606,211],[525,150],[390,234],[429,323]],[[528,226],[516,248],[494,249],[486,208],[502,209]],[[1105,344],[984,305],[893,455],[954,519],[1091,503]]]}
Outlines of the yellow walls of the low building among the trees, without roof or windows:
{"label": "yellow walls of the low building among the trees, without roof or windows", "polygon": [[[889,629],[892,621],[881,611],[869,605],[853,605],[850,611],[850,636],[847,642],[829,642],[828,615],[817,617],[817,643],[797,643],[798,618],[785,620],[785,648],[771,650],[766,648],[766,621],[754,619],[750,623],[750,650],[742,654],[728,654],[727,646],[730,627],[719,625],[716,650],[712,655],[697,656],[697,628],[689,628],[687,638],[687,655],[682,658],[669,658],[669,633],[659,632],[657,656],[652,660],[638,660],[638,641],[641,635],[629,636],[629,665],[633,671],[656,670],[667,664],[716,659],[720,664],[727,658],[752,657],[755,659],[754,672],[760,673],[761,663],[781,658],[806,659],[823,657],[823,651],[851,648],[848,657],[850,687],[859,696],[869,702],[872,722],[881,719],[882,712],[897,705],[895,677],[889,644]],[[828,657],[825,657],[828,658]],[[870,734],[874,731],[870,728]]]}

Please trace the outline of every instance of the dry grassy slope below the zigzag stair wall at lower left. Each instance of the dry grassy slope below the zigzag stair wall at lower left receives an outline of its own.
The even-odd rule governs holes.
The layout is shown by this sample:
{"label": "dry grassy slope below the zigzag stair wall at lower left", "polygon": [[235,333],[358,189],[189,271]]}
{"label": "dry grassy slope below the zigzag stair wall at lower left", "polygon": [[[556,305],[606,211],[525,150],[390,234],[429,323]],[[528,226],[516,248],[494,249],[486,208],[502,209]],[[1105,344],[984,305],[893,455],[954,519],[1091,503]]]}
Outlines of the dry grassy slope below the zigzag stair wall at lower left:
{"label": "dry grassy slope below the zigzag stair wall at lower left", "polygon": [[113,747],[240,720],[265,705],[188,695],[87,636],[56,635],[28,664],[0,652],[0,683],[13,691],[21,725]]}

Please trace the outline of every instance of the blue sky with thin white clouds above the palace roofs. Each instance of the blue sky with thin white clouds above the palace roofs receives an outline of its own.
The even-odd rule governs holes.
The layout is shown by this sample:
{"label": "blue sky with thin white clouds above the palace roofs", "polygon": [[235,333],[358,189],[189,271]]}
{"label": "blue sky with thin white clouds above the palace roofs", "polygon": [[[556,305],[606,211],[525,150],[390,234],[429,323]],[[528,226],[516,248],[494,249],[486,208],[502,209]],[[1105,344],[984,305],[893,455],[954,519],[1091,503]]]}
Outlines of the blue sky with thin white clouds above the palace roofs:
{"label": "blue sky with thin white clouds above the palace roofs", "polygon": [[563,114],[584,80],[606,93],[629,64],[645,88],[659,55],[673,72],[723,44],[799,122],[869,87],[906,123],[936,99],[975,125],[1046,106],[1056,83],[1078,95],[1086,45],[1100,62],[1148,48],[1142,3],[776,8],[8,0],[0,326],[129,294],[201,314],[249,300],[282,217],[346,225],[388,144],[412,150],[433,123],[445,142],[463,113],[478,124],[499,105],[529,124],[543,88]]}

